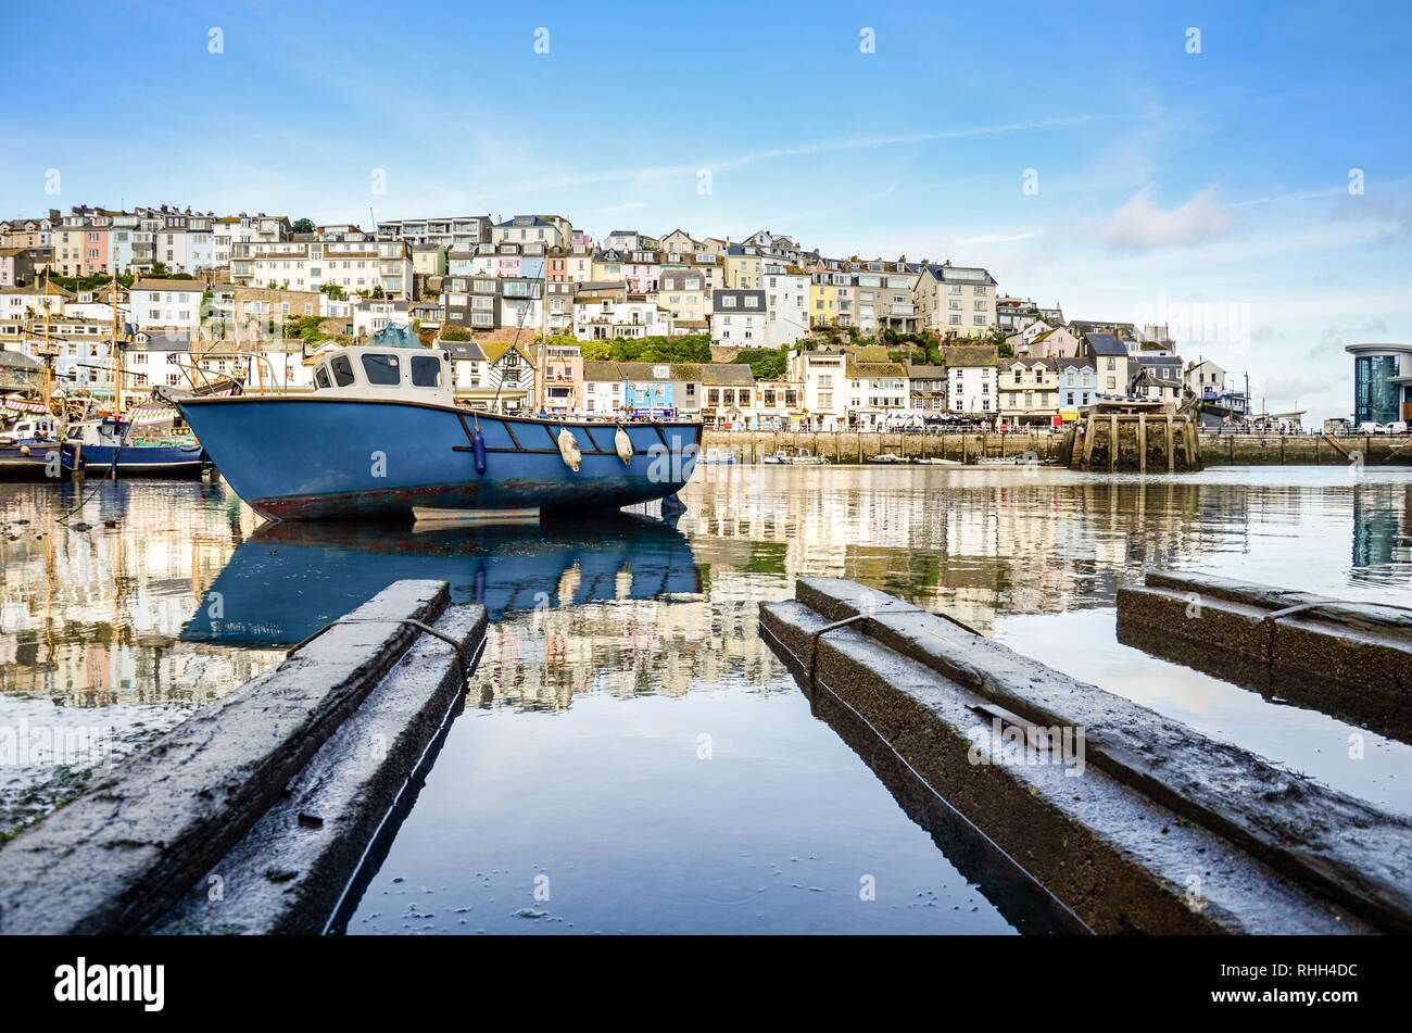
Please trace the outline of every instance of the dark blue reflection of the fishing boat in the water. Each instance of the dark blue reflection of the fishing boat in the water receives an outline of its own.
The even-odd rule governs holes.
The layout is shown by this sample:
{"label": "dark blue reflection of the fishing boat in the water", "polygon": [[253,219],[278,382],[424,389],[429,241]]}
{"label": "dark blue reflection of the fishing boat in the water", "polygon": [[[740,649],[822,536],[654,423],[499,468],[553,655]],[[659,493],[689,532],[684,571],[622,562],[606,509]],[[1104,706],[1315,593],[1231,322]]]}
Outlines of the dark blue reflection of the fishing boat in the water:
{"label": "dark blue reflection of the fishing boat in the water", "polygon": [[184,641],[299,642],[388,583],[428,577],[456,603],[507,611],[700,591],[676,528],[633,514],[592,522],[436,528],[267,524],[220,572]]}

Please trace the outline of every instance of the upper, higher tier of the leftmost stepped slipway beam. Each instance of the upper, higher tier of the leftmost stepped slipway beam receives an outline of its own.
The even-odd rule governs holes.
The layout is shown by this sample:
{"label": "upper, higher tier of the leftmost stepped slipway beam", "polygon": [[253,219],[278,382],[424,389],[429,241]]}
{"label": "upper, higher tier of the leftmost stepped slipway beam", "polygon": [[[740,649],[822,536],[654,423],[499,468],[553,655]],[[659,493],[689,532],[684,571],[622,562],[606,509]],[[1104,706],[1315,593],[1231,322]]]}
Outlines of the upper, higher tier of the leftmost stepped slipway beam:
{"label": "upper, higher tier of the leftmost stepped slipway beam", "polygon": [[143,931],[280,799],[433,622],[445,581],[395,581],[294,656],[195,711],[0,848],[0,933]]}

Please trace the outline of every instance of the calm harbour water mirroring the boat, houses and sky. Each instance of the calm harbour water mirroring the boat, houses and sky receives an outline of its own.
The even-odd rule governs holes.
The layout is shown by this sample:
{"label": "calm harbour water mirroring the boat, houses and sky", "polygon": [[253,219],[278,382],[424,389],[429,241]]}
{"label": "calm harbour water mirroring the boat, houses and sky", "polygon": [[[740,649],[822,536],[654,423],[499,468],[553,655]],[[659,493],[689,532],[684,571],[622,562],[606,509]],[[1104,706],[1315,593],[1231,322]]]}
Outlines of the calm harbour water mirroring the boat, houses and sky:
{"label": "calm harbour water mirroring the boat, houses and sky", "polygon": [[675,528],[424,533],[261,528],[219,481],[131,481],[76,531],[71,487],[4,484],[0,715],[199,706],[387,581],[443,577],[493,627],[347,931],[1052,929],[760,639],[760,601],[827,574],[1412,811],[1412,747],[1370,734],[1350,761],[1350,725],[1120,645],[1113,608],[1145,564],[1409,605],[1405,471],[717,466],[683,498]]}

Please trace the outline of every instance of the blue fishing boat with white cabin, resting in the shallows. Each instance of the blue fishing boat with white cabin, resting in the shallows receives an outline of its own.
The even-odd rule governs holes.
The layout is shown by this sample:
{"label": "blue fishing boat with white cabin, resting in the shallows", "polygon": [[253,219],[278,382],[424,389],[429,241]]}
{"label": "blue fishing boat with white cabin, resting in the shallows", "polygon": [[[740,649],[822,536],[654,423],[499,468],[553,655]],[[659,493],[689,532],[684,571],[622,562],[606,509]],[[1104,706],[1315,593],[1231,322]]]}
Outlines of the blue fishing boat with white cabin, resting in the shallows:
{"label": "blue fishing boat with white cabin, resting in the shallows", "polygon": [[575,514],[690,480],[696,421],[535,419],[457,405],[438,349],[345,347],[306,395],[174,398],[236,494],[273,519]]}

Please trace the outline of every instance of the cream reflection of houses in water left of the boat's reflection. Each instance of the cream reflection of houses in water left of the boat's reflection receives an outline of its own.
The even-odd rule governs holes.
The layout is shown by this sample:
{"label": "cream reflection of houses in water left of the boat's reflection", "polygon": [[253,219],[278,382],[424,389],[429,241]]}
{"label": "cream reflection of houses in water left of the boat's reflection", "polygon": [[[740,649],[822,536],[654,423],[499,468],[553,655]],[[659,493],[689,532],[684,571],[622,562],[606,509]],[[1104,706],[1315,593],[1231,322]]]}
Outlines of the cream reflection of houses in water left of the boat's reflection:
{"label": "cream reflection of houses in water left of the boat's reflection", "polygon": [[93,522],[88,531],[59,524],[78,501],[68,484],[7,485],[0,495],[0,691],[78,706],[203,700],[280,655],[179,642],[254,522],[219,485],[103,484],[73,518]]}

